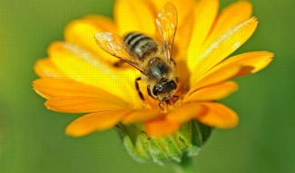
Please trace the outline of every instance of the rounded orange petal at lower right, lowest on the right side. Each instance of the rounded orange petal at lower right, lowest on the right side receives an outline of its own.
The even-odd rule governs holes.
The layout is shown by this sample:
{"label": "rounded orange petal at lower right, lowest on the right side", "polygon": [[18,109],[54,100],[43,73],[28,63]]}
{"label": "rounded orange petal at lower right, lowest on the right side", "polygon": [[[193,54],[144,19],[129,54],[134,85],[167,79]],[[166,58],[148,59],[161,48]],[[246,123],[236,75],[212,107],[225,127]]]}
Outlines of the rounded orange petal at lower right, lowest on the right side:
{"label": "rounded orange petal at lower right, lowest on the right side", "polygon": [[232,128],[238,124],[239,118],[237,113],[221,103],[202,102],[201,104],[206,109],[196,119],[203,124],[221,129]]}

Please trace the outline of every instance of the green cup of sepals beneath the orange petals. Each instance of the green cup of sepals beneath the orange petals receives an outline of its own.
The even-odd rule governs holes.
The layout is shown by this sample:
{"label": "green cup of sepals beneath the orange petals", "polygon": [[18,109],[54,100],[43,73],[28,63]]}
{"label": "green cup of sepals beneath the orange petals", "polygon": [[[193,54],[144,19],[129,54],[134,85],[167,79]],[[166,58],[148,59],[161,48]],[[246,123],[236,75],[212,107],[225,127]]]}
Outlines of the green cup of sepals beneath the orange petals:
{"label": "green cup of sepals beneath the orange petals", "polygon": [[143,124],[117,126],[128,154],[139,162],[152,160],[164,165],[180,163],[182,158],[195,156],[211,135],[211,127],[197,120],[182,124],[182,128],[173,135],[163,138],[150,138]]}

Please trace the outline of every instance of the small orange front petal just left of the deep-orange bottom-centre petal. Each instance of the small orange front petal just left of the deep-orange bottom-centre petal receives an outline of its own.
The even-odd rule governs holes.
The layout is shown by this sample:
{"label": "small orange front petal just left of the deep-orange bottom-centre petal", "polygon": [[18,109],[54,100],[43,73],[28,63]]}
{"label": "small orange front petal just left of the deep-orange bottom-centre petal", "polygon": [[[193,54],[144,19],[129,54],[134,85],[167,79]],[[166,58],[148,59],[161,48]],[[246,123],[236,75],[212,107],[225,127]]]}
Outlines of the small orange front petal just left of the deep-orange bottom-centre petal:
{"label": "small orange front petal just left of the deep-orange bottom-centre petal", "polygon": [[151,120],[151,119],[157,118],[159,116],[161,116],[161,112],[159,109],[156,109],[156,110],[147,110],[147,109],[133,110],[123,118],[122,122],[124,124],[132,124],[132,123],[136,123],[136,122],[143,122],[146,120]]}

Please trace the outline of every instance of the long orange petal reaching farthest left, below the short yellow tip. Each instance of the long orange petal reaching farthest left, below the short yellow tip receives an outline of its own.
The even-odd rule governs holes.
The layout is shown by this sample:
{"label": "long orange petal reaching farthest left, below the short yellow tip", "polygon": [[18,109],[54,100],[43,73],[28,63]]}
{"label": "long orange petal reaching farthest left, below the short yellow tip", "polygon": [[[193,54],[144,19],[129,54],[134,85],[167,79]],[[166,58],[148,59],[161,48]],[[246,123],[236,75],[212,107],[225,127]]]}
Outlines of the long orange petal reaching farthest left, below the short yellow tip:
{"label": "long orange petal reaching farthest left, below the short yellow tip", "polygon": [[34,91],[38,92],[46,99],[53,98],[73,98],[73,97],[95,97],[97,100],[115,102],[126,106],[127,103],[111,94],[91,85],[81,82],[74,82],[68,79],[41,78],[33,82]]}

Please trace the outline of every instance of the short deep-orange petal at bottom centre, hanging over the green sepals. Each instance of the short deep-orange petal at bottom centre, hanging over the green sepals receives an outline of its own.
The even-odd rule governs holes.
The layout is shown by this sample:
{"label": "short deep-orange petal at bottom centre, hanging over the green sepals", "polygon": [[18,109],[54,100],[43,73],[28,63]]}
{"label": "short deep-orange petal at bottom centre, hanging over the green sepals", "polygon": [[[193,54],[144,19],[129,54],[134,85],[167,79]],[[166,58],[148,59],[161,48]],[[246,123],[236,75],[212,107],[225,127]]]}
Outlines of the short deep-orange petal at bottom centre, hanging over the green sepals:
{"label": "short deep-orange petal at bottom centre, hanging over the green sepals", "polygon": [[181,124],[164,119],[145,122],[145,132],[150,137],[162,137],[171,135],[181,128]]}

